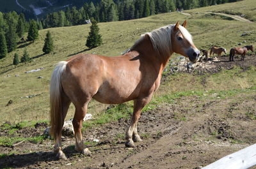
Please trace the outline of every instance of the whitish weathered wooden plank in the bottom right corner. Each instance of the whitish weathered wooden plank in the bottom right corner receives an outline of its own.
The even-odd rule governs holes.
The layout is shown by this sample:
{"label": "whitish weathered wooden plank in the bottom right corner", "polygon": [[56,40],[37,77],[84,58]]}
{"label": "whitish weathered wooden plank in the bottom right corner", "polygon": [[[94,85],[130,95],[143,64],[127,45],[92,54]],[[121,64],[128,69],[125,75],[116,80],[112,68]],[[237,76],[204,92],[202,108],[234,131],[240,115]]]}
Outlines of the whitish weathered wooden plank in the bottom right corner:
{"label": "whitish weathered wooden plank in the bottom right corner", "polygon": [[246,169],[256,165],[256,144],[229,154],[203,169]]}

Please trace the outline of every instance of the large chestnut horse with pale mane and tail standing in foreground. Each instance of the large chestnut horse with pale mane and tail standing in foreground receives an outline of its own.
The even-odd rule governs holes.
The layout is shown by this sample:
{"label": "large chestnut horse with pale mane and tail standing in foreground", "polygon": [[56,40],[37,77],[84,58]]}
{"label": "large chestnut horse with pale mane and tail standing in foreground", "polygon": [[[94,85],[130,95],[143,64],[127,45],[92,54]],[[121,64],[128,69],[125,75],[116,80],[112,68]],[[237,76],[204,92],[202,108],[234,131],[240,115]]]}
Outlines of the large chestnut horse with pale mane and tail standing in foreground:
{"label": "large chestnut horse with pale mane and tail standing in foreground", "polygon": [[71,102],[76,108],[72,122],[76,151],[90,154],[84,147],[81,129],[92,98],[106,104],[134,100],[125,145],[134,147],[134,142],[141,141],[137,132],[141,110],[159,87],[161,74],[170,56],[176,52],[195,62],[200,54],[185,28],[186,24],[185,20],[182,26],[177,22],[145,33],[124,55],[77,54],[56,65],[51,77],[50,104],[51,135],[58,158],[66,159],[61,151],[61,129]]}

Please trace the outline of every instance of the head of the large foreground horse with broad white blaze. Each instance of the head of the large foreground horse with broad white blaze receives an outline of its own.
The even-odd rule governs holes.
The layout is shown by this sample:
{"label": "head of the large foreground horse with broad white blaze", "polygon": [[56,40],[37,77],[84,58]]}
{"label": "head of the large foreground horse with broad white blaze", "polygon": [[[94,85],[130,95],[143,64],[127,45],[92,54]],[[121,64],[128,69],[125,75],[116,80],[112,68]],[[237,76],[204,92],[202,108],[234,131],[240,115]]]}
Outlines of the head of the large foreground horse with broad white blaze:
{"label": "head of the large foreground horse with broad white blaze", "polygon": [[186,20],[179,25],[179,21],[173,27],[172,32],[172,49],[177,54],[188,57],[191,62],[196,62],[200,55],[200,51],[195,47],[191,34],[185,28],[187,25]]}

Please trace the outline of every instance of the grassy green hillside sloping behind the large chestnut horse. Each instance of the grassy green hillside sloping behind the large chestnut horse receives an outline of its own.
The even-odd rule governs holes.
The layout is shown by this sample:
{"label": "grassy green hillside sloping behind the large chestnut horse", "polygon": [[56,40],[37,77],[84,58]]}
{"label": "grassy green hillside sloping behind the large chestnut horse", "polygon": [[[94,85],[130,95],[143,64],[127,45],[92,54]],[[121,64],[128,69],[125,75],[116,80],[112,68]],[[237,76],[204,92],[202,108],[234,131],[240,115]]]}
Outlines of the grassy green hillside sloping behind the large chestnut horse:
{"label": "grassy green hillside sloping behind the large chestnut horse", "polygon": [[[232,3],[232,6],[239,11],[240,3],[250,6],[253,0],[246,0],[238,3]],[[177,20],[188,20],[188,30],[193,35],[196,47],[209,48],[212,45],[220,45],[227,48],[237,46],[237,43],[246,41],[244,45],[256,45],[255,38],[256,29],[255,23],[239,22],[236,20],[226,20],[225,18],[207,16],[204,13],[193,15],[196,11],[207,10],[229,10],[230,4],[218,6],[210,6],[207,8],[198,8],[188,11],[191,16],[184,15],[178,12],[164,13],[148,18],[138,20],[129,20],[122,22],[100,23],[100,33],[102,34],[103,45],[92,50],[87,50],[85,53],[100,54],[100,55],[120,55],[122,51],[131,47],[134,41],[140,38],[140,34],[152,31],[167,24],[175,24]],[[244,12],[241,8],[241,13]],[[251,8],[252,9],[252,8]],[[252,10],[251,10],[252,11]],[[199,16],[199,17],[198,17]],[[39,32],[39,39],[35,43],[20,43],[15,52],[21,57],[24,48],[28,49],[30,57],[35,57],[28,64],[19,64],[13,66],[13,55],[15,52],[8,54],[4,59],[0,60],[0,123],[4,121],[20,122],[20,121],[38,121],[47,120],[49,114],[49,82],[54,64],[58,61],[68,59],[71,55],[79,52],[84,52],[86,49],[85,41],[88,35],[90,25],[59,27],[45,29]],[[53,54],[43,55],[42,47],[47,31],[51,31],[54,40],[55,50]],[[241,36],[246,31],[250,31],[250,36]],[[34,73],[24,73],[29,70],[44,68],[41,71]],[[237,70],[238,71],[238,70]],[[251,74],[255,74],[255,69],[251,70],[244,82],[252,78]],[[15,77],[15,75],[19,75]],[[44,78],[37,78],[37,77]],[[239,80],[234,81],[233,78],[225,79],[225,72],[213,77],[205,77],[207,85],[200,84],[200,78],[193,75],[175,75],[169,77],[161,89],[156,93],[156,98],[162,96],[163,93],[186,92],[186,91],[204,91],[243,89],[244,87]],[[236,77],[234,77],[236,78]],[[239,78],[239,77],[237,77]],[[224,81],[225,80],[225,81]],[[229,81],[227,81],[229,80]],[[171,82],[171,83],[170,83]],[[218,82],[218,85],[216,85]],[[233,85],[226,86],[228,82]],[[242,82],[243,83],[243,82]],[[191,85],[193,84],[193,85]],[[255,86],[254,80],[249,80],[246,87]],[[32,98],[21,98],[39,94]],[[5,105],[12,99],[13,103],[8,107]],[[89,105],[89,113],[97,113],[105,109],[108,105],[103,105],[92,101]],[[71,107],[67,118],[74,114],[74,107]]]}

